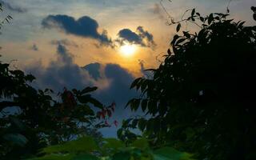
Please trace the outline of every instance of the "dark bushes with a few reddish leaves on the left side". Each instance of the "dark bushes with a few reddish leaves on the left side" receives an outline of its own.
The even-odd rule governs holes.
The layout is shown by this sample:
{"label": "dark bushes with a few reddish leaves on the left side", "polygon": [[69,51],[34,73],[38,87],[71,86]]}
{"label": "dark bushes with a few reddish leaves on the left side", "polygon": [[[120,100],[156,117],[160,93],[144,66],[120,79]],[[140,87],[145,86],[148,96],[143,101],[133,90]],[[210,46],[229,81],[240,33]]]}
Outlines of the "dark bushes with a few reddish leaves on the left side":
{"label": "dark bushes with a few reddish leaves on the left side", "polygon": [[[67,90],[51,97],[53,90],[37,90],[30,86],[34,76],[22,70],[10,70],[9,64],[0,62],[0,156],[15,159],[35,154],[46,145],[75,139],[80,135],[101,138],[97,131],[106,125],[114,103],[103,106],[90,95],[97,87],[84,90]],[[93,110],[92,106],[96,108]],[[17,108],[17,113],[7,113],[7,108]],[[104,118],[94,112],[98,111]],[[106,115],[107,114],[107,115]],[[14,154],[15,153],[15,154]]]}

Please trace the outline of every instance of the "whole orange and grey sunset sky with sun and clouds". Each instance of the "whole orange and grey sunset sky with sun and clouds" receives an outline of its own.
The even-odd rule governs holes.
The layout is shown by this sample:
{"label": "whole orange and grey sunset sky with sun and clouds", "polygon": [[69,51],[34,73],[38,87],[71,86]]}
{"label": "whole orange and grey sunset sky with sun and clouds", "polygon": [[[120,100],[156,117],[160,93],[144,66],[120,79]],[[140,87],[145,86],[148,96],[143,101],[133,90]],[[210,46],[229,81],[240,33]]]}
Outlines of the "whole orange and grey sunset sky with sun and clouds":
{"label": "whole orange and grey sunset sky with sun and clouds", "polygon": [[[117,103],[113,119],[121,123],[138,113],[124,109],[134,78],[159,65],[169,47],[175,26],[168,26],[159,0],[0,0],[14,19],[2,27],[2,62],[34,74],[34,86],[55,91],[64,86],[82,89],[98,86],[94,94],[102,103]],[[185,10],[202,14],[226,12],[230,0],[162,0],[178,20]],[[252,25],[254,0],[230,2],[230,16]],[[196,31],[188,24],[182,30]],[[120,125],[119,125],[120,126]],[[114,126],[102,130],[115,137]]]}

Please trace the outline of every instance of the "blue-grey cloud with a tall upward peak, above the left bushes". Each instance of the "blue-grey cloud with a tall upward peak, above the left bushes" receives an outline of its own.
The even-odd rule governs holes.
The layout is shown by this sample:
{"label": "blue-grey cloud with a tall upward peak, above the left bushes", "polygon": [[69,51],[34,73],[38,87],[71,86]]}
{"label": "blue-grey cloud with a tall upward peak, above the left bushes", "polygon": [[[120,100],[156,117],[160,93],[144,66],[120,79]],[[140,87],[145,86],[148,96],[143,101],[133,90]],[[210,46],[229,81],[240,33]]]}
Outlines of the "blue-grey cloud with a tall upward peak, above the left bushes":
{"label": "blue-grey cloud with a tall upward peak, above the left bushes", "polygon": [[57,59],[50,62],[49,66],[45,67],[42,63],[35,62],[27,66],[26,73],[34,74],[37,78],[36,86],[56,91],[62,90],[64,86],[69,89],[82,89],[93,84],[88,72],[74,64],[73,55],[63,45],[58,45]]}

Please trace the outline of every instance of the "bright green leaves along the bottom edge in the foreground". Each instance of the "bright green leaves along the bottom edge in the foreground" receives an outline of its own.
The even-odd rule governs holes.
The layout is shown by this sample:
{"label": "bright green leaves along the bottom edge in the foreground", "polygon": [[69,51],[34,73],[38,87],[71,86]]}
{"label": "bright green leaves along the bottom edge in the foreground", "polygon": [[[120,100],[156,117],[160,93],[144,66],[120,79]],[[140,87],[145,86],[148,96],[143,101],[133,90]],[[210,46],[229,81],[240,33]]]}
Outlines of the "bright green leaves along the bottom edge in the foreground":
{"label": "bright green leaves along the bottom edge in the foreground", "polygon": [[66,142],[58,146],[49,146],[42,150],[42,156],[30,160],[192,160],[191,154],[182,153],[170,147],[150,150],[146,139],[138,139],[130,146],[114,138],[103,138],[96,145],[91,137],[83,137],[76,141]]}

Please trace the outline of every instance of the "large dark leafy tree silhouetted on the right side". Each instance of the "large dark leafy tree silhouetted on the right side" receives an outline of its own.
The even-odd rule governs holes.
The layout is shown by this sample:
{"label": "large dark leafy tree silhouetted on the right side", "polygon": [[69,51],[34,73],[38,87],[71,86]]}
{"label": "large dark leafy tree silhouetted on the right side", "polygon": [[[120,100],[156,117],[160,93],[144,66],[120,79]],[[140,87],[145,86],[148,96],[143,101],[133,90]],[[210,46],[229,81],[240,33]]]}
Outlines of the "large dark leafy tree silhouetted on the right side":
{"label": "large dark leafy tree silhouetted on the right side", "polygon": [[179,33],[182,22],[200,30],[175,34],[164,61],[148,70],[153,77],[131,84],[142,95],[127,106],[152,117],[126,120],[118,137],[136,139],[129,130],[138,127],[154,146],[174,146],[199,159],[254,159],[256,26],[196,10],[178,23]]}

